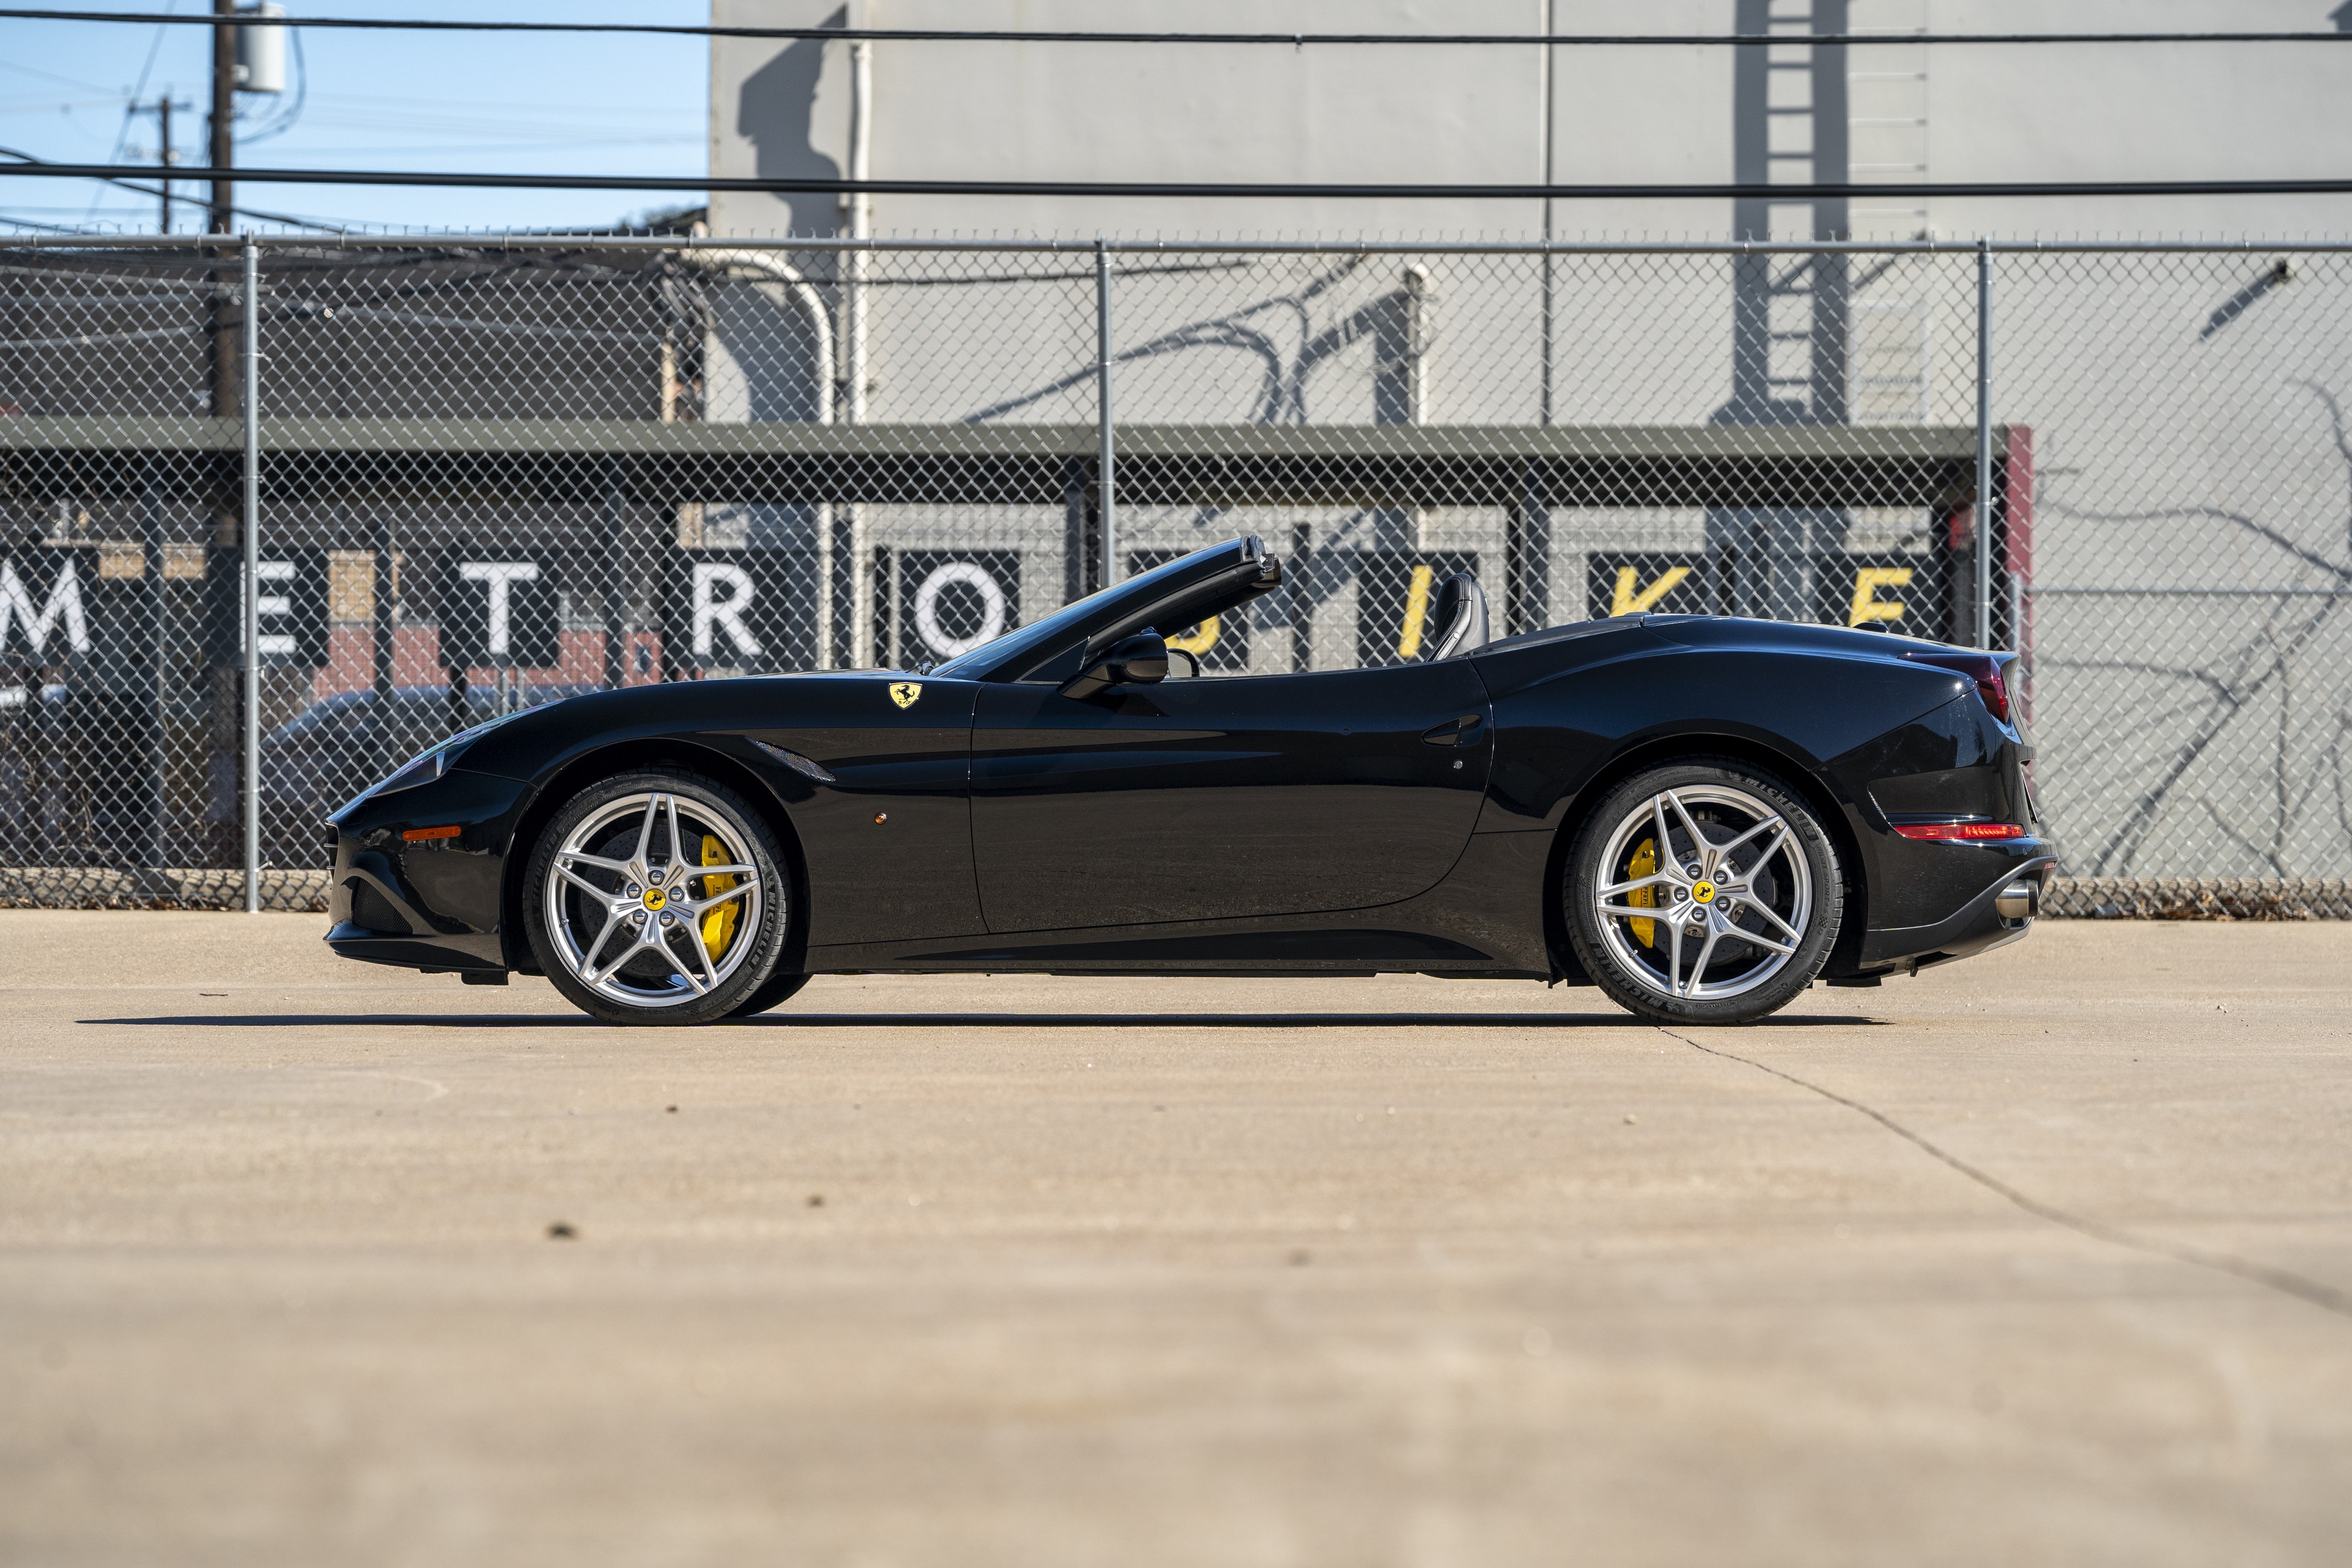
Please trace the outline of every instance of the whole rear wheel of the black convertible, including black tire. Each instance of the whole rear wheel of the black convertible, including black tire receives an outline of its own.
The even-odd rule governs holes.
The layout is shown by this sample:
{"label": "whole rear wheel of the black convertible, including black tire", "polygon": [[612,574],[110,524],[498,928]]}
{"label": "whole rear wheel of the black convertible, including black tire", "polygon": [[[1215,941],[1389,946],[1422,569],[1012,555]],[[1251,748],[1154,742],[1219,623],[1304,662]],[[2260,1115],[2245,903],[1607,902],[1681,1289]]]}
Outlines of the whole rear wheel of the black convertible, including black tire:
{"label": "whole rear wheel of the black convertible, including black tire", "polygon": [[1576,961],[1625,1011],[1651,1023],[1755,1023],[1828,964],[1844,872],[1820,818],[1783,778],[1693,757],[1609,790],[1578,830],[1562,900]]}

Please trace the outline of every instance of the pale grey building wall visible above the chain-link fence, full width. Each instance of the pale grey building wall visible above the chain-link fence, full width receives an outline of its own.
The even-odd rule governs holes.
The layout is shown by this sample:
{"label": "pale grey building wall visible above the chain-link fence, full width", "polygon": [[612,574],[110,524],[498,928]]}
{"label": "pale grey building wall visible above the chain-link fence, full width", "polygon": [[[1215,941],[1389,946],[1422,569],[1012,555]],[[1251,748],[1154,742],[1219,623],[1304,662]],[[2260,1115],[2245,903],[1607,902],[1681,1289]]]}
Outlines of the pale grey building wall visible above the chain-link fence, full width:
{"label": "pale grey building wall visible above the chain-link fence, full width", "polygon": [[[851,0],[863,26],[1381,33],[1828,33],[1891,45],[1209,47],[877,45],[880,179],[1729,181],[1820,158],[1860,181],[2333,176],[2352,167],[2352,45],[1943,45],[1905,33],[2328,31],[2331,0]],[[842,0],[713,0],[741,26],[847,26]],[[849,155],[847,47],[713,40],[710,169],[835,174]],[[1764,61],[1762,56],[1771,59]],[[1764,68],[1769,66],[1769,71]],[[1748,85],[1743,85],[1743,71]],[[1545,108],[1550,101],[1550,110]],[[1759,120],[1769,115],[1769,129]],[[1790,113],[1806,110],[1806,113]],[[1743,125],[1745,118],[1745,125]],[[1743,153],[1743,148],[1750,148]],[[1792,158],[1809,153],[1813,158]],[[1806,167],[1806,165],[1816,167]],[[2343,233],[2352,197],[1950,197],[1860,202],[1865,237]],[[1773,223],[1788,214],[1773,214]],[[1726,237],[1729,202],[1555,205],[1555,235]],[[833,233],[833,197],[722,195],[720,233]],[[884,233],[1541,235],[1538,202],[1143,202],[884,197]]]}

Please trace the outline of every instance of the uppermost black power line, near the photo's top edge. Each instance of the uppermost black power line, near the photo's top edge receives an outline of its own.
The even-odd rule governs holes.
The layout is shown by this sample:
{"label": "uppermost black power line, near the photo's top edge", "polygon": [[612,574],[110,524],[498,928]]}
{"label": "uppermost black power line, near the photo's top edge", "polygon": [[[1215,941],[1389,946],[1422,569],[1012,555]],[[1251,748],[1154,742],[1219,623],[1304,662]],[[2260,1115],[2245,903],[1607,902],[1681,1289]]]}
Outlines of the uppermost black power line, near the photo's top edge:
{"label": "uppermost black power line, near the photo's top edge", "polygon": [[[14,21],[125,21],[219,26],[214,16],[165,12],[54,12],[0,7]],[[1559,47],[1738,47],[1762,45],[2277,45],[2352,42],[2352,33],[1044,33],[1016,28],[722,28],[666,21],[435,21],[421,16],[256,16],[240,28],[374,28],[402,33],[637,33],[668,38],[800,38],[863,42],[1011,45],[1559,45]]]}

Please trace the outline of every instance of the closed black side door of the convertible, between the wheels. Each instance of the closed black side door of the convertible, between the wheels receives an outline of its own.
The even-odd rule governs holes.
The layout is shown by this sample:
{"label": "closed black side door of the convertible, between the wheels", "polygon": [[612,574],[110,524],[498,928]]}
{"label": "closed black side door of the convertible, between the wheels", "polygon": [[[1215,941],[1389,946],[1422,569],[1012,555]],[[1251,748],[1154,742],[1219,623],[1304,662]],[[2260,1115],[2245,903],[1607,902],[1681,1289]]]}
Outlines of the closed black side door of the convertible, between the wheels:
{"label": "closed black side door of the convertible, between the wheels", "polygon": [[990,931],[1355,910],[1437,884],[1486,788],[1468,661],[981,689],[971,849]]}

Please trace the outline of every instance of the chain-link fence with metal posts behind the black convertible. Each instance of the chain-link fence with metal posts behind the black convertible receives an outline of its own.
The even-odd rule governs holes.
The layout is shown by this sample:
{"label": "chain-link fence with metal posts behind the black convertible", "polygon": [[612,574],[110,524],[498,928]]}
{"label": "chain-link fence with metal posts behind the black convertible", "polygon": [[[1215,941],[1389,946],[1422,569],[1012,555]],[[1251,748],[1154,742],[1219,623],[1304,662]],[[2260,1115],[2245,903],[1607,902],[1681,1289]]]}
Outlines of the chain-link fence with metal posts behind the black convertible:
{"label": "chain-link fence with metal posts behind the black convertible", "polygon": [[1204,672],[1414,658],[1454,571],[1498,635],[1990,642],[2060,910],[2352,914],[2345,249],[249,252],[0,244],[5,900],[313,907],[325,813],[492,712],[1261,534]]}

